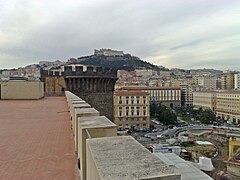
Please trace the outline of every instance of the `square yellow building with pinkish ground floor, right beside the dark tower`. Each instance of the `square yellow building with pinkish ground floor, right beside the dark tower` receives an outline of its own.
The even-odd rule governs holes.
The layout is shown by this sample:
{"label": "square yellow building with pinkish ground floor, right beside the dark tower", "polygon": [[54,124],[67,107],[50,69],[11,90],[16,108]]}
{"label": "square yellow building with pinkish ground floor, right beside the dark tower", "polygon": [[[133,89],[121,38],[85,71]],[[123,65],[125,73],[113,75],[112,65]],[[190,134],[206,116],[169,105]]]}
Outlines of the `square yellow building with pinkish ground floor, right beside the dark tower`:
{"label": "square yellow building with pinkish ground floor, right beside the dark tower", "polygon": [[149,128],[150,96],[139,90],[114,92],[114,123],[118,128]]}

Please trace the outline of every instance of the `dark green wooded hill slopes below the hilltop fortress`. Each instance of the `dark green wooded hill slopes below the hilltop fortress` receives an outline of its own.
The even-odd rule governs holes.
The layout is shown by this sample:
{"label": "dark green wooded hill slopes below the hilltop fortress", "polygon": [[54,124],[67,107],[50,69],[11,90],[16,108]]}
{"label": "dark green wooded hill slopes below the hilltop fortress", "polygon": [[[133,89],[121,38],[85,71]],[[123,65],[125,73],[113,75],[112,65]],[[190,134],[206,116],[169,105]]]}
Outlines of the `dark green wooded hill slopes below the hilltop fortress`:
{"label": "dark green wooded hill slopes below the hilltop fortress", "polygon": [[76,59],[75,63],[91,66],[110,67],[118,70],[127,71],[133,71],[135,69],[162,69],[149,62],[143,61],[138,57],[131,56],[130,54],[124,54],[123,56],[84,56]]}

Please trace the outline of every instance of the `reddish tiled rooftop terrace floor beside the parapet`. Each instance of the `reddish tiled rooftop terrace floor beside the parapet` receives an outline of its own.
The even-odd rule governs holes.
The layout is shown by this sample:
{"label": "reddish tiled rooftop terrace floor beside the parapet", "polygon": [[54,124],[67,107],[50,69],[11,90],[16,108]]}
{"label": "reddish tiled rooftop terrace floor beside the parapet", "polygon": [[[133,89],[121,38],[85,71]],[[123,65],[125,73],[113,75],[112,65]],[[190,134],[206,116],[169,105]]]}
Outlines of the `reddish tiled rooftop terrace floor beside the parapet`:
{"label": "reddish tiled rooftop terrace floor beside the parapet", "polygon": [[64,97],[0,100],[0,179],[78,179]]}

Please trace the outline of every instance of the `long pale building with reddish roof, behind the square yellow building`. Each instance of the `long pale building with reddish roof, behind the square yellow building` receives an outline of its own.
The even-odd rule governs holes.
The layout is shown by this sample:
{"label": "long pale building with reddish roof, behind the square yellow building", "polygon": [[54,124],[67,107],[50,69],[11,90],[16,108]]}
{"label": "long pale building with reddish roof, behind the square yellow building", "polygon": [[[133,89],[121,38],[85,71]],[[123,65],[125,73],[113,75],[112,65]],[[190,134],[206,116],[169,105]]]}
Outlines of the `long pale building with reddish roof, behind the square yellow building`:
{"label": "long pale building with reddish roof, behind the square yellow building", "polygon": [[123,90],[142,90],[150,94],[151,103],[161,103],[169,107],[181,106],[180,87],[125,86]]}

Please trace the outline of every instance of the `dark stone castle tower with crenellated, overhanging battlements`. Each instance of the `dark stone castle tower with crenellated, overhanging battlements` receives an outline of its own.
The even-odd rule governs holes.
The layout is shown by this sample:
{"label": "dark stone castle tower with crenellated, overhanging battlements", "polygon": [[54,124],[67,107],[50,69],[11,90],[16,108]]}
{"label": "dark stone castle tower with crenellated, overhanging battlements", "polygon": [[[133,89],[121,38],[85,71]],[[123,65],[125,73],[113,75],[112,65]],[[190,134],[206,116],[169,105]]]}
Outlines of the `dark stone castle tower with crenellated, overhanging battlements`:
{"label": "dark stone castle tower with crenellated, overhanging battlements", "polygon": [[113,121],[113,91],[117,71],[110,68],[65,66],[64,72],[41,70],[47,94],[61,94],[71,91],[96,108],[101,115]]}

